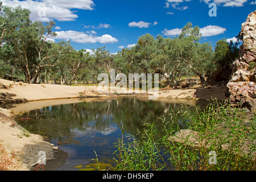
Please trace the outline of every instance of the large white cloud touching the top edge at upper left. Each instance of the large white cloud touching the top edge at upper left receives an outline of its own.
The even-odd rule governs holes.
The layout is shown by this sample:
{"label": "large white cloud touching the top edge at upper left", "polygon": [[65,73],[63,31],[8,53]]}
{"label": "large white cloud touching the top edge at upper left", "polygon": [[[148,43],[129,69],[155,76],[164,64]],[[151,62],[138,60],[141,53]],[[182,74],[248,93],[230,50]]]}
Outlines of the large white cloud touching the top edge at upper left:
{"label": "large white cloud touching the top edge at upper left", "polygon": [[31,11],[32,21],[40,20],[48,22],[56,19],[58,21],[72,21],[78,18],[71,9],[93,10],[92,0],[42,0],[42,1],[18,1],[2,0],[3,5],[10,7],[21,6]]}

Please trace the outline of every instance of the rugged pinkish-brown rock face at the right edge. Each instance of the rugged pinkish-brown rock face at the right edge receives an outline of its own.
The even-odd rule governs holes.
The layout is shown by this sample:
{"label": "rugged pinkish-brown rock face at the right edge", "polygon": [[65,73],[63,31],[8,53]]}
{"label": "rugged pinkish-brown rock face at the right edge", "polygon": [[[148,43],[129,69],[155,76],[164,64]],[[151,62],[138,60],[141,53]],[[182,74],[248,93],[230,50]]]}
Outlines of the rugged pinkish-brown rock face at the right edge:
{"label": "rugged pinkish-brown rock face at the right edge", "polygon": [[242,24],[240,35],[243,44],[227,84],[229,99],[256,110],[256,11]]}

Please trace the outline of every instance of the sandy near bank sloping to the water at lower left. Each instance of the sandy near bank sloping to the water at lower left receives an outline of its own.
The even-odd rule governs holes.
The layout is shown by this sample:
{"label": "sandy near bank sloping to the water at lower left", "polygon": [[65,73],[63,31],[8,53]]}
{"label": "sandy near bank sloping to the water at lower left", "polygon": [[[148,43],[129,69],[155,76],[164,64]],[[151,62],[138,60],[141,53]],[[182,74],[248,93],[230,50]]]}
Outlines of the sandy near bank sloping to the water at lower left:
{"label": "sandy near bank sloping to the water at lower left", "polygon": [[1,152],[5,159],[0,160],[3,162],[3,160],[10,160],[13,157],[12,154],[15,156],[15,159],[11,160],[11,165],[7,166],[7,170],[30,171],[34,169],[36,165],[33,164],[37,163],[40,158],[39,151],[46,152],[47,159],[55,159],[57,152],[55,147],[44,141],[40,135],[29,134],[28,136],[24,132],[25,130],[10,117],[9,111],[1,109],[0,146],[5,149],[5,153]]}

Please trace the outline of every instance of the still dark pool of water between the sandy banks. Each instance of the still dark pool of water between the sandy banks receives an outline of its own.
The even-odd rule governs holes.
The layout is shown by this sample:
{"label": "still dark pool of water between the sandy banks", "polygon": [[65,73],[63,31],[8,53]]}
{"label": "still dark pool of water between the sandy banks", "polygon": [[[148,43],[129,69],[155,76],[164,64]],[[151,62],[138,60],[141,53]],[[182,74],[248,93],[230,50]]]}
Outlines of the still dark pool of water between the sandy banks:
{"label": "still dark pool of water between the sandy banks", "polygon": [[[90,169],[92,159],[96,159],[94,151],[100,163],[114,165],[114,143],[121,137],[122,126],[125,134],[134,136],[143,131],[144,123],[154,123],[161,130],[160,118],[170,121],[171,110],[179,111],[184,109],[184,105],[187,104],[170,99],[155,101],[119,97],[46,106],[17,115],[16,121],[32,118],[18,123],[31,133],[43,135],[50,143],[63,143],[59,149],[68,152],[69,158],[57,170]],[[207,101],[198,101],[196,105],[204,107]],[[195,106],[189,110],[195,111]]]}

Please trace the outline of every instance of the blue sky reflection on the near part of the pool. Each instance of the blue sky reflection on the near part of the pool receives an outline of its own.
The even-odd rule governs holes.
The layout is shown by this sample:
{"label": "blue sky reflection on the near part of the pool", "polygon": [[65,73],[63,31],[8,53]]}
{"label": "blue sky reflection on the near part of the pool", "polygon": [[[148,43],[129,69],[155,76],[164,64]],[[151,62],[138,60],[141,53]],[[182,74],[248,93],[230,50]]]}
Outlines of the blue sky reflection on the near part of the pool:
{"label": "blue sky reflection on the near part of the pool", "polygon": [[61,145],[60,150],[68,152],[69,159],[58,170],[77,170],[74,168],[82,164],[86,166],[93,163],[92,159],[96,159],[94,151],[97,152],[98,159],[112,159],[115,151],[114,144],[117,138],[121,136],[121,130],[117,126],[106,126],[96,128],[93,123],[83,129],[70,129],[73,138],[68,140],[67,145]]}

